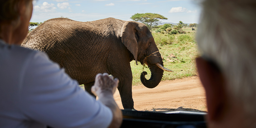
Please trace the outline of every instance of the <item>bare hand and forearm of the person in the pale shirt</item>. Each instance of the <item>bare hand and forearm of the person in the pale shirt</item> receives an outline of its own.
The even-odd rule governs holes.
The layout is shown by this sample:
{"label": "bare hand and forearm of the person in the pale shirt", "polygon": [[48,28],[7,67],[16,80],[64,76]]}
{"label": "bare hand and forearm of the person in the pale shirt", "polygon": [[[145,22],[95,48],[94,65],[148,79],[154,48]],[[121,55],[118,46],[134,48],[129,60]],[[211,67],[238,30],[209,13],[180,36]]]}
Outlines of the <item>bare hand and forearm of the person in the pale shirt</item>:
{"label": "bare hand and forearm of the person in the pale shirt", "polygon": [[110,108],[113,113],[113,119],[109,127],[120,127],[122,124],[122,112],[117,106],[114,100],[113,94],[117,88],[119,80],[112,76],[108,76],[107,73],[97,74],[95,77],[95,84],[92,87],[92,93],[99,97],[104,105]]}

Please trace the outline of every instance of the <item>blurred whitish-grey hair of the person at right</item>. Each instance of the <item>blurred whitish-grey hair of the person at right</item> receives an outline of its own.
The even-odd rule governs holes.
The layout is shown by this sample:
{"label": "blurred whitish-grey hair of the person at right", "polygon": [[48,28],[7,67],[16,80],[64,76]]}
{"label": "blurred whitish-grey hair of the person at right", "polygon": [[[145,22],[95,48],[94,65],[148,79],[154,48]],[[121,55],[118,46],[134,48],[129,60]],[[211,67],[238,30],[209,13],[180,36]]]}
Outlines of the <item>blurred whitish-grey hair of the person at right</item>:
{"label": "blurred whitish-grey hair of the person at right", "polygon": [[219,66],[229,94],[256,114],[256,1],[205,0],[198,49]]}

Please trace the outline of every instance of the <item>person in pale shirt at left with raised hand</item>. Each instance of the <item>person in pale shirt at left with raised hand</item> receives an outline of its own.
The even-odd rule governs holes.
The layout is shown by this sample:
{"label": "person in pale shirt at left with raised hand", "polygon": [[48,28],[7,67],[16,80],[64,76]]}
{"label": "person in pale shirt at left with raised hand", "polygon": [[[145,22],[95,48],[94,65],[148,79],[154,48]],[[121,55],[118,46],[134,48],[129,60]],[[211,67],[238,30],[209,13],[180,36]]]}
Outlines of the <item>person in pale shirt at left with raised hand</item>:
{"label": "person in pale shirt at left with raised hand", "polygon": [[95,100],[45,53],[20,46],[32,10],[32,0],[1,0],[0,127],[120,127],[118,79],[98,74]]}

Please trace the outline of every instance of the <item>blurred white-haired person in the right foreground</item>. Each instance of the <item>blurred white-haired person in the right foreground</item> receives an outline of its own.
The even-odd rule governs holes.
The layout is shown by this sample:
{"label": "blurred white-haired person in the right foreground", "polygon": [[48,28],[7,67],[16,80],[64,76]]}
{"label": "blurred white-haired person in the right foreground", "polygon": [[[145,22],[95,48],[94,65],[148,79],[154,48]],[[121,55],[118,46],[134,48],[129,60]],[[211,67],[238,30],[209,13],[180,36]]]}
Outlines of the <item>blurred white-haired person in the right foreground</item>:
{"label": "blurred white-haired person in the right foreground", "polygon": [[205,0],[196,59],[208,126],[256,127],[256,1]]}

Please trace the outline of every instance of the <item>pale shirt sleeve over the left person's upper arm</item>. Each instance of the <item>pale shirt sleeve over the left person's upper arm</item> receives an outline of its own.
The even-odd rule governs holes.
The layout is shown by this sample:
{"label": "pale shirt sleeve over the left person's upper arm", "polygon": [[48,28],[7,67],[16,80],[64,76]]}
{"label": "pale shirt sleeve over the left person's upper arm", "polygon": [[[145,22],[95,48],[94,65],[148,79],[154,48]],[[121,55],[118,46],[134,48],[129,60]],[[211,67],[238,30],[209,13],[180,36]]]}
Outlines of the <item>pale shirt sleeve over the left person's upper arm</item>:
{"label": "pale shirt sleeve over the left person's upper arm", "polygon": [[51,127],[107,127],[112,111],[78,87],[64,69],[37,52],[24,66],[19,108],[29,122]]}

